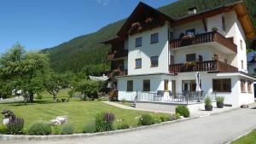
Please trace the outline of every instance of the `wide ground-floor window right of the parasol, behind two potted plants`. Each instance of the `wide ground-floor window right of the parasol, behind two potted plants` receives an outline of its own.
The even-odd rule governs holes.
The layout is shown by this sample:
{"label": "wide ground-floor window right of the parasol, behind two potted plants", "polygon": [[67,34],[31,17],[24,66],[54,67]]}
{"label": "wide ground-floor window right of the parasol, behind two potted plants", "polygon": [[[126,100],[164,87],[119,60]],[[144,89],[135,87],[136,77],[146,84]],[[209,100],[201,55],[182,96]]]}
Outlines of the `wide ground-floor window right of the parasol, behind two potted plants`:
{"label": "wide ground-floor window right of the parasol, behind two potted plants", "polygon": [[231,92],[231,79],[212,79],[212,87],[214,92]]}

